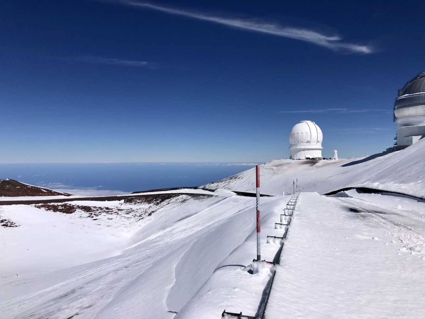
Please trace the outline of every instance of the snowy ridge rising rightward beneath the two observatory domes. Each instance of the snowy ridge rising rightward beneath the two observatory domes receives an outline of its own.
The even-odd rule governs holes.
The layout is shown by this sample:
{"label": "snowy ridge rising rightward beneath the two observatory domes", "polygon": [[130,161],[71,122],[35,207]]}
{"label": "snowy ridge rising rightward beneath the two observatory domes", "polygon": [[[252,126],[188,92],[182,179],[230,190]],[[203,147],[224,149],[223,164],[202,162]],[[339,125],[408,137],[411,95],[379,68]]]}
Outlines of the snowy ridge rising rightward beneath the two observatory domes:
{"label": "snowy ridge rising rightward beneath the two observatory domes", "polygon": [[[273,160],[261,165],[261,192],[270,195],[292,193],[298,179],[303,192],[326,194],[346,187],[368,187],[425,198],[425,138],[412,146],[387,155],[342,160]],[[253,192],[254,169],[201,186]]]}

